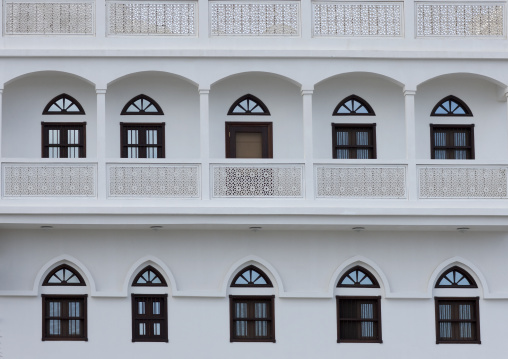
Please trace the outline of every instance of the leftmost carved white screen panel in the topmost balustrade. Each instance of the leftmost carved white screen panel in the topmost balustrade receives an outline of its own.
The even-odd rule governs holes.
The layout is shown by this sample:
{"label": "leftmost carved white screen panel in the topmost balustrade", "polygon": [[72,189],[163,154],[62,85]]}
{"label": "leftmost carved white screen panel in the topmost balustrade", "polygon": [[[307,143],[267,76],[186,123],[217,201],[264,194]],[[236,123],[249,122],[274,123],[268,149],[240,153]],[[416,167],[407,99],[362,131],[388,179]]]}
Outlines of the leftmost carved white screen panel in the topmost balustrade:
{"label": "leftmost carved white screen panel in the topmost balustrade", "polygon": [[5,33],[93,35],[93,2],[6,2]]}

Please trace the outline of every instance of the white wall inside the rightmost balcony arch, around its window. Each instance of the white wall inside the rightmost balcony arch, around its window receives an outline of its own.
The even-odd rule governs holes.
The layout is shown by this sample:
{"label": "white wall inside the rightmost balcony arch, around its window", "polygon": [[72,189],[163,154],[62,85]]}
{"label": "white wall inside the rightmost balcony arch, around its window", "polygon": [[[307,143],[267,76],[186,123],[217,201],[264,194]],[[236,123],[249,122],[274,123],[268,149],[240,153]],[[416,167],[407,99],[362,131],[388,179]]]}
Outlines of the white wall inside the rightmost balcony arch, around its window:
{"label": "white wall inside the rightmost balcony arch, around its window", "polygon": [[[464,101],[473,117],[431,117],[434,106],[454,95]],[[475,124],[475,159],[505,161],[508,156],[506,100],[499,98],[499,87],[471,75],[448,75],[430,80],[416,92],[416,157],[430,159],[429,124]]]}

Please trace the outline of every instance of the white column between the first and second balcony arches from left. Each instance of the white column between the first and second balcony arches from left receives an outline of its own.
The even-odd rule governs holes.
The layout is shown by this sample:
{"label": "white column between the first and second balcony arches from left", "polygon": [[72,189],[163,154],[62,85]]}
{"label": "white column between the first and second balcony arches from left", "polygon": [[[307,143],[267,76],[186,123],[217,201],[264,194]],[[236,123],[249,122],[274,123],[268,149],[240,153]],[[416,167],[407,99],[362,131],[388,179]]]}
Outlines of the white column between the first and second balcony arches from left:
{"label": "white column between the first and second balcony arches from left", "polygon": [[106,199],[106,89],[97,93],[97,198]]}

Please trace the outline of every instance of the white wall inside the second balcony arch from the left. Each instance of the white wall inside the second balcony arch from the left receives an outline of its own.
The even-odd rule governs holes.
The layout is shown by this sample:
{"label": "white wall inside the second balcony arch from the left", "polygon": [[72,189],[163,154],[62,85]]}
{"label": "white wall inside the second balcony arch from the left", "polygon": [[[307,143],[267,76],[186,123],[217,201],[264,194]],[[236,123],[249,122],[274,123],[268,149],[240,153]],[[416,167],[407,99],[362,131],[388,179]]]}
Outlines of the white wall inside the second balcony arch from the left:
{"label": "white wall inside the second balcony arch from the left", "polygon": [[[163,116],[121,116],[125,104],[144,94],[161,106]],[[166,127],[166,158],[199,157],[199,94],[197,88],[176,76],[144,72],[119,79],[106,93],[106,157],[120,158],[120,122],[160,123]]]}

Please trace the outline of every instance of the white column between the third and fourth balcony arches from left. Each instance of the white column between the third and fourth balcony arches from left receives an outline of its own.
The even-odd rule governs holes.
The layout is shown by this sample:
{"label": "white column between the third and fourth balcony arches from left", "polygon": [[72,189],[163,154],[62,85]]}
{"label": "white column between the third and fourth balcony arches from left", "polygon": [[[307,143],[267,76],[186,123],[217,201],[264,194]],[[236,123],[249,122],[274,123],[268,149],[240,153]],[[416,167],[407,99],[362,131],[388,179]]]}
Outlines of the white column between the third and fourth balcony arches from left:
{"label": "white column between the third and fourth balcony arches from left", "polygon": [[314,200],[314,148],[312,132],[312,94],[314,88],[302,88],[303,157],[305,160],[305,198]]}

